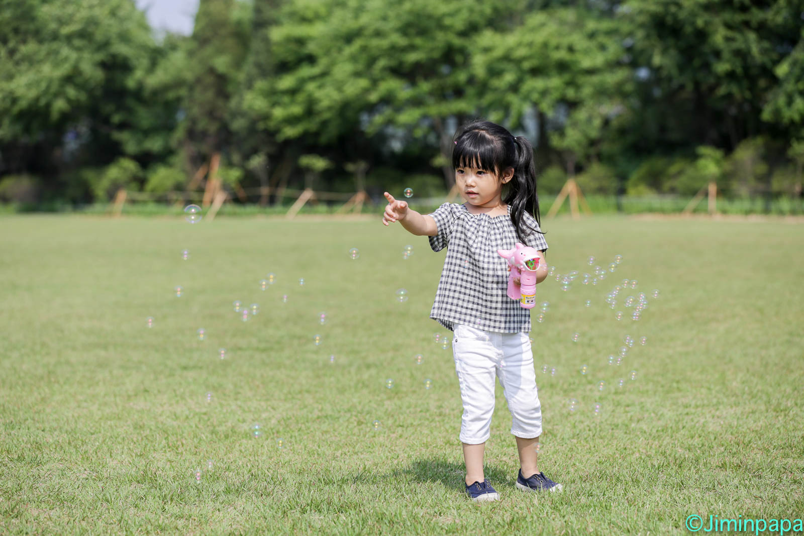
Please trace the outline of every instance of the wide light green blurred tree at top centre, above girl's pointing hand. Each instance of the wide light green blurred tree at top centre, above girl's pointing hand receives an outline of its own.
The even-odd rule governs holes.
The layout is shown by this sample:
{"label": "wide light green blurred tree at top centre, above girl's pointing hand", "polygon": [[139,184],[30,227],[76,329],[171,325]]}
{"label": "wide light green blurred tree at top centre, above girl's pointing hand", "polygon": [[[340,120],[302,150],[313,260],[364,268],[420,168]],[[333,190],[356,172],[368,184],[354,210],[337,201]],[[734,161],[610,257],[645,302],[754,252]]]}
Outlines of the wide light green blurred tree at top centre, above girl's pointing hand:
{"label": "wide light green blurred tree at top centre, above girl's pointing hand", "polygon": [[470,36],[505,27],[515,3],[402,0],[389,16],[384,0],[297,0],[272,33],[278,72],[256,88],[260,120],[281,140],[334,144],[398,129],[449,154],[457,125],[478,113],[466,96]]}

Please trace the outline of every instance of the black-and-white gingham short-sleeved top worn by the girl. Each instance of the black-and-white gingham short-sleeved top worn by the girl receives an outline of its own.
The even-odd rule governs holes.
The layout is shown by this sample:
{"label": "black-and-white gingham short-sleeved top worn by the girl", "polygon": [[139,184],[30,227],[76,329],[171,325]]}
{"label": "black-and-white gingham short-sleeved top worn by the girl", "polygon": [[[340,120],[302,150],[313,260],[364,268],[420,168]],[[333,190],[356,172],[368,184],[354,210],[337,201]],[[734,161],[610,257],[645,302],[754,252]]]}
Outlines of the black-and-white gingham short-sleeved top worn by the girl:
{"label": "black-and-white gingham short-sleeved top worn by the girl", "polygon": [[[511,300],[508,290],[508,264],[498,249],[512,249],[519,241],[507,215],[472,214],[462,204],[444,203],[433,214],[438,233],[429,236],[430,248],[447,248],[441,280],[430,318],[450,331],[453,323],[468,324],[501,333],[531,330],[531,311]],[[528,227],[538,229],[536,219],[527,213]],[[525,242],[539,251],[548,248],[544,236],[531,233]]]}

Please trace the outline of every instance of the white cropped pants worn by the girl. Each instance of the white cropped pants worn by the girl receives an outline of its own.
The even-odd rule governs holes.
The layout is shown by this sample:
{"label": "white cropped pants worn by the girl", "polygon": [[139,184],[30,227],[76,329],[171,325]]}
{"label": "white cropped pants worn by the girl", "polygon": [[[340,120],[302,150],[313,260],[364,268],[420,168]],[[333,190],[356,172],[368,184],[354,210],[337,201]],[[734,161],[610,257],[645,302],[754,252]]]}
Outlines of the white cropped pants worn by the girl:
{"label": "white cropped pants worn by the girl", "polygon": [[463,403],[461,443],[481,444],[489,439],[495,374],[511,411],[511,433],[523,439],[541,436],[542,408],[528,333],[498,333],[464,324],[453,325],[453,332]]}

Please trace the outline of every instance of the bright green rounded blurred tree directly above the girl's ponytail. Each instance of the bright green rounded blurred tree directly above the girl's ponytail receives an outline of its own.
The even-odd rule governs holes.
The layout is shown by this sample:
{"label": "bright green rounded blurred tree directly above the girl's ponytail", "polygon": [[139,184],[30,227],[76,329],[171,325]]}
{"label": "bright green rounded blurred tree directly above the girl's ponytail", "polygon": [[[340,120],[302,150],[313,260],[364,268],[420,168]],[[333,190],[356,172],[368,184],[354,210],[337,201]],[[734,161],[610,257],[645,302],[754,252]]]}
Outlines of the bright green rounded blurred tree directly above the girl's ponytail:
{"label": "bright green rounded blurred tree directly above the girl's ponytail", "polygon": [[630,78],[618,63],[617,35],[614,21],[597,10],[566,7],[528,14],[510,32],[486,31],[471,95],[493,121],[512,127],[535,106],[540,148],[559,151],[572,176],[576,163],[597,160],[606,125],[626,109]]}

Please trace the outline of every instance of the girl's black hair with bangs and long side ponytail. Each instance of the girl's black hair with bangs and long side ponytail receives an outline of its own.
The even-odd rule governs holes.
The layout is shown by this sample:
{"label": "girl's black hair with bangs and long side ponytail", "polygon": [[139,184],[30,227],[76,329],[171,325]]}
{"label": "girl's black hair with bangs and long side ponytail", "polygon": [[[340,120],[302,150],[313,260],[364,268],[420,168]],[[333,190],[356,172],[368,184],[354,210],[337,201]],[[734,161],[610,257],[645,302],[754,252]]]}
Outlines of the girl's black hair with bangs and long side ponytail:
{"label": "girl's black hair with bangs and long side ponytail", "polygon": [[[536,168],[530,141],[522,136],[514,137],[503,126],[481,120],[461,126],[453,141],[455,169],[478,167],[498,177],[504,170],[514,169],[503,201],[511,205],[511,223],[514,224],[519,242],[526,243],[525,237],[533,231],[544,235],[540,231],[539,194],[536,193]],[[533,229],[524,222],[523,211],[535,218],[539,229]]]}

